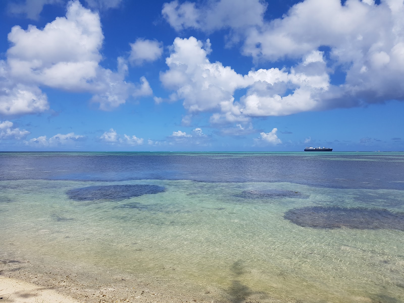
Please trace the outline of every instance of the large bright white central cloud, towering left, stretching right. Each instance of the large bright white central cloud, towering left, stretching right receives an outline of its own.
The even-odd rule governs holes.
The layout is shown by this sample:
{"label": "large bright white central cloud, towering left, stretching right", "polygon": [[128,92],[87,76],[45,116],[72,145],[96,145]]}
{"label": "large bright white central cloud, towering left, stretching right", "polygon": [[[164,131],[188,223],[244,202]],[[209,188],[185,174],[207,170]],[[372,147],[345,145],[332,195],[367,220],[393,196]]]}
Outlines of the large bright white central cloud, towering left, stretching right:
{"label": "large bright white central cloud, towering left, stretching right", "polygon": [[[175,38],[166,59],[169,69],[160,74],[160,80],[174,90],[170,99],[183,99],[190,114],[214,112],[212,123],[248,122],[250,117],[289,115],[321,107],[319,96],[329,88],[322,55],[310,53],[289,71],[271,68],[241,75],[220,62],[210,62],[203,43],[196,38]],[[246,94],[235,101],[235,91],[245,88]]]}

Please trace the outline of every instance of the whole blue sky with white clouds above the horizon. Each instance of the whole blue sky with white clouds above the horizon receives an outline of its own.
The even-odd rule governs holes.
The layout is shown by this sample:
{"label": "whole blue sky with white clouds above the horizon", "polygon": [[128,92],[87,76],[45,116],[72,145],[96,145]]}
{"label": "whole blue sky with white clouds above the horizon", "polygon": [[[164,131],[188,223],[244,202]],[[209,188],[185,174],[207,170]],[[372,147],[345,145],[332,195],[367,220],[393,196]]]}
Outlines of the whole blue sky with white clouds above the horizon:
{"label": "whole blue sky with white clouds above the horizon", "polygon": [[1,151],[404,150],[403,0],[5,0]]}

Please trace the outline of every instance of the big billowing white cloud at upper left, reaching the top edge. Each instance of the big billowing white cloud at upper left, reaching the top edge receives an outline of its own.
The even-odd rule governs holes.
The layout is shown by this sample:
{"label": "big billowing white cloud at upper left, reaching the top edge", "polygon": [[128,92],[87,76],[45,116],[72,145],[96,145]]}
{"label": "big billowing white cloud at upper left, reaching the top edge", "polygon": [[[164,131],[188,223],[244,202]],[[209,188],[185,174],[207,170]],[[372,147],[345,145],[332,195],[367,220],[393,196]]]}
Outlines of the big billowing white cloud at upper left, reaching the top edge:
{"label": "big billowing white cloud at upper left, reaching the top edge", "polygon": [[[99,16],[69,2],[66,17],[38,29],[16,25],[8,34],[11,76],[66,90],[88,90],[97,76],[103,34]],[[101,72],[102,73],[102,72]],[[74,76],[73,76],[74,75]]]}

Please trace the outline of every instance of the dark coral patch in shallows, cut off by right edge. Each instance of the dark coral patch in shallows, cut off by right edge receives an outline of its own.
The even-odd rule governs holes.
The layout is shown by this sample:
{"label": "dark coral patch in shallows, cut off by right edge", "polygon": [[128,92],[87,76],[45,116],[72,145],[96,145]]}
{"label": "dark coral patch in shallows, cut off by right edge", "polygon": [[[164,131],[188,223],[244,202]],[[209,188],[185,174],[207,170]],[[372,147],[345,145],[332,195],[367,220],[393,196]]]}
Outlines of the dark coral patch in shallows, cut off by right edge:
{"label": "dark coral patch in shallows, cut off by right edge", "polygon": [[284,218],[303,227],[404,231],[404,213],[393,213],[380,208],[306,206],[288,210]]}

